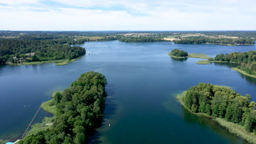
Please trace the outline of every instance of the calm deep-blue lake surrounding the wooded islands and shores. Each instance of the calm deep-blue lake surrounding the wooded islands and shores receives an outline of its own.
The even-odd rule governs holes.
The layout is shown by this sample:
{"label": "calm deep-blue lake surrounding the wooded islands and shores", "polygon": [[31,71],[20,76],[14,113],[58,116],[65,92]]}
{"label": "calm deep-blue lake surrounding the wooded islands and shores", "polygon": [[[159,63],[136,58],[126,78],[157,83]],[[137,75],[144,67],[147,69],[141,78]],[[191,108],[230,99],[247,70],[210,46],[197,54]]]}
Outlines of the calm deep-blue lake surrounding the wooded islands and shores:
{"label": "calm deep-blue lake surrounding the wooded islands and shores", "polygon": [[[177,61],[173,49],[189,53],[245,52],[256,46],[172,43],[90,42],[87,54],[68,65],[53,63],[0,67],[0,139],[17,139],[39,105],[87,71],[107,77],[104,124],[95,143],[246,143],[207,118],[192,115],[175,99],[199,82],[230,86],[256,100],[256,79],[232,70],[236,65]],[[88,55],[90,53],[90,55]],[[26,106],[25,106],[26,105]],[[49,114],[40,110],[36,122]],[[108,124],[111,124],[108,127]]]}

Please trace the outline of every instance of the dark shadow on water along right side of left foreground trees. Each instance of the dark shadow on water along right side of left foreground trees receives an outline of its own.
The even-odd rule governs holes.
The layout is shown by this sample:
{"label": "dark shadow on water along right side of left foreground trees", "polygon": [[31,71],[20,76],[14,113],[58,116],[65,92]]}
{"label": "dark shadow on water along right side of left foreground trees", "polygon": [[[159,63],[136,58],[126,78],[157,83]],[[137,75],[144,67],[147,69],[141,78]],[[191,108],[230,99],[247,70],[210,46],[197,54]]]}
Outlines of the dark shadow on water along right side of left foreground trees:
{"label": "dark shadow on water along right side of left foreground trees", "polygon": [[100,140],[101,129],[103,129],[103,127],[107,127],[108,123],[106,123],[106,119],[112,118],[112,116],[117,113],[117,102],[116,99],[113,98],[114,91],[112,88],[106,88],[106,91],[107,99],[105,102],[106,105],[104,109],[104,117],[102,119],[101,127],[98,128],[95,131],[94,135],[88,139],[88,143],[102,143],[102,141]]}

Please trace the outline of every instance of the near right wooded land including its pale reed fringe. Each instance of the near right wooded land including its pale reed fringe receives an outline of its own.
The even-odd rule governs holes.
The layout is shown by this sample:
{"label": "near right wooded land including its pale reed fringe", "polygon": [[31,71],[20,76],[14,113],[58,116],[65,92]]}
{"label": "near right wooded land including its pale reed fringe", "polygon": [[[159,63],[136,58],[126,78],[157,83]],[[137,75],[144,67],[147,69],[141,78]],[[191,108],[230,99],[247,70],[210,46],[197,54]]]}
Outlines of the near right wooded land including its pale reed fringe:
{"label": "near right wooded land including its pale reed fringe", "polygon": [[190,112],[210,117],[230,133],[256,143],[256,103],[251,95],[243,97],[229,87],[199,83],[177,99]]}

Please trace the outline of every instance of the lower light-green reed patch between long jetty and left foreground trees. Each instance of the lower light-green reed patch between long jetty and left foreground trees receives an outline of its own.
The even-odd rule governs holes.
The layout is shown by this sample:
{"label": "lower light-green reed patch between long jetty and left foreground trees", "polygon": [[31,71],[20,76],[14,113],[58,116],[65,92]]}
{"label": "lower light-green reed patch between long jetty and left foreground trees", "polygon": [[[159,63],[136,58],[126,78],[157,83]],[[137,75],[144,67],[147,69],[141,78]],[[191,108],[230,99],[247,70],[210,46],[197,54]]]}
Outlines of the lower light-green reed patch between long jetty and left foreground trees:
{"label": "lower light-green reed patch between long jetty and left foreground trees", "polygon": [[53,119],[54,119],[53,117],[44,117],[42,123],[36,123],[32,125],[32,129],[27,132],[27,135],[35,134],[38,131],[50,128],[51,124],[49,125],[49,123],[52,123]]}

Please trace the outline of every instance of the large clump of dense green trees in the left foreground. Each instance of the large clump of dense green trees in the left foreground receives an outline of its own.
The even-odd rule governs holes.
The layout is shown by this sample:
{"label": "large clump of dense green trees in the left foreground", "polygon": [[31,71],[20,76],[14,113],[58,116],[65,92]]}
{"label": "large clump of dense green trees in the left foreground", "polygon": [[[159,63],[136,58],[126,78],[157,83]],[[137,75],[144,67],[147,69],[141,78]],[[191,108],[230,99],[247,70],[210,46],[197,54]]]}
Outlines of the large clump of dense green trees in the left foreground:
{"label": "large clump of dense green trees in the left foreground", "polygon": [[106,78],[100,73],[82,74],[70,88],[54,95],[56,115],[53,126],[28,135],[19,143],[87,143],[88,137],[102,122],[106,84]]}

